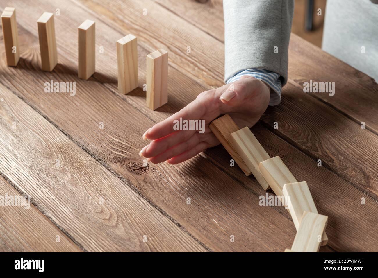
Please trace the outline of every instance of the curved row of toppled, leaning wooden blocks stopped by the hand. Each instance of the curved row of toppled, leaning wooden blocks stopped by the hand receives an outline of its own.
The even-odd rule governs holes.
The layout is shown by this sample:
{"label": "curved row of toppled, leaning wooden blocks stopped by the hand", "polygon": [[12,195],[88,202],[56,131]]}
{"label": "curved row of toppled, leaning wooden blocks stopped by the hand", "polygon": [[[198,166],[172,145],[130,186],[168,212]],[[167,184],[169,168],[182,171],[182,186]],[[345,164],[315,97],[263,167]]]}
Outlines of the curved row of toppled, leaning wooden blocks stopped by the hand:
{"label": "curved row of toppled, leaning wooden blocks stopped by the hand", "polygon": [[251,130],[239,129],[228,114],[213,120],[210,129],[245,175],[252,173],[264,190],[272,188],[287,200],[284,205],[297,233],[291,249],[285,252],[318,252],[327,244],[328,217],[318,214],[307,182],[298,182],[279,156],[270,158]]}

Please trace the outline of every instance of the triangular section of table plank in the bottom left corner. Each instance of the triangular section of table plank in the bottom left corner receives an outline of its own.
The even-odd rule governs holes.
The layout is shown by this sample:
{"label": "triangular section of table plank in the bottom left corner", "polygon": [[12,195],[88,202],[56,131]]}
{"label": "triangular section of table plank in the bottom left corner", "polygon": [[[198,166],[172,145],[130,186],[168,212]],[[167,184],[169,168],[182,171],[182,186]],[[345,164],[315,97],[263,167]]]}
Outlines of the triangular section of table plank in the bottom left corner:
{"label": "triangular section of table plank in the bottom left corner", "polygon": [[2,176],[0,204],[0,252],[81,251]]}

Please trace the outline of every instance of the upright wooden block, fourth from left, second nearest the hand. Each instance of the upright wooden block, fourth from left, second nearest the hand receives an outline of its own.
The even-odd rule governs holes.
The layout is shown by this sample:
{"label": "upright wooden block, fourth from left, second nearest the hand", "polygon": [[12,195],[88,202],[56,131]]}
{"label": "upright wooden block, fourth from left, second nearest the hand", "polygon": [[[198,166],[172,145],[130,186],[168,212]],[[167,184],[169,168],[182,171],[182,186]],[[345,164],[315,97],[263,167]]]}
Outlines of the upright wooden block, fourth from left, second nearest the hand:
{"label": "upright wooden block, fourth from left, second nearest the hand", "polygon": [[138,41],[129,34],[117,40],[118,91],[127,94],[138,87]]}

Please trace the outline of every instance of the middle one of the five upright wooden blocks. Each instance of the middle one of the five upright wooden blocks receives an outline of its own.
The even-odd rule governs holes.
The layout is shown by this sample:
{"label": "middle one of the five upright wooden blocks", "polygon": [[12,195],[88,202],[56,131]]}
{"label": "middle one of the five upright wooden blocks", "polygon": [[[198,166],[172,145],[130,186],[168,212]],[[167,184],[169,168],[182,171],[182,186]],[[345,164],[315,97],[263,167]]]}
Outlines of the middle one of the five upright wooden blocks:
{"label": "middle one of the five upright wooden blocks", "polygon": [[77,75],[87,80],[95,73],[95,44],[96,44],[96,23],[92,20],[85,20],[77,27],[79,46],[79,69]]}

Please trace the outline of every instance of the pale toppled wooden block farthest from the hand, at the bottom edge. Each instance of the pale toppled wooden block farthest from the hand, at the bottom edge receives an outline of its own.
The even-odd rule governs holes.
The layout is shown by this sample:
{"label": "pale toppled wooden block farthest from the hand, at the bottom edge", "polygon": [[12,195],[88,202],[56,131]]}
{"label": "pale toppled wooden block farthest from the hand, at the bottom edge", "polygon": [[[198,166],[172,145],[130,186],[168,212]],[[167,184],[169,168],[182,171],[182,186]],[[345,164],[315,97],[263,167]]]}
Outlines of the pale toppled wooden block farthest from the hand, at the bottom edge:
{"label": "pale toppled wooden block farthest from the hand, at the bottom edge", "polygon": [[328,216],[304,212],[291,251],[318,252],[321,242],[319,238],[324,233],[327,221]]}

